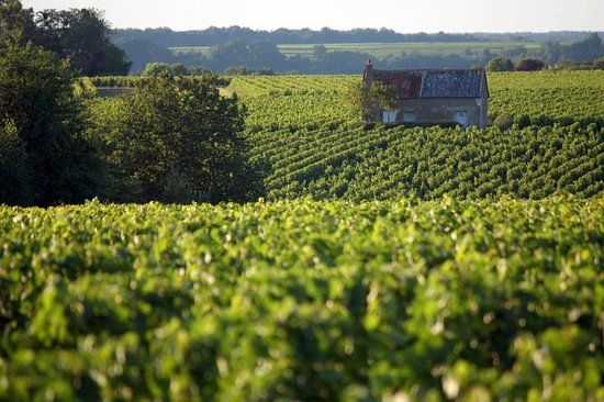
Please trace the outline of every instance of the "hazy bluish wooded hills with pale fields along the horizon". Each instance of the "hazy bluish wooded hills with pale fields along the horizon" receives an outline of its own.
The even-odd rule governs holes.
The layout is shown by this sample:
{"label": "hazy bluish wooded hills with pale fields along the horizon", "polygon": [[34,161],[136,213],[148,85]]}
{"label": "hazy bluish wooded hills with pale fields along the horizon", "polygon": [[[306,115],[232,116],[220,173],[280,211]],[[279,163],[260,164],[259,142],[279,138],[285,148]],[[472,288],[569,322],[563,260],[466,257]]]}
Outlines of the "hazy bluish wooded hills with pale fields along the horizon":
{"label": "hazy bluish wooded hills with pale fields along the horizon", "polygon": [[536,57],[555,65],[604,55],[599,34],[589,32],[403,34],[388,29],[256,31],[241,26],[177,32],[160,27],[115,30],[112,40],[127,54],[132,72],[142,72],[149,63],[180,63],[219,72],[236,67],[280,74],[356,74],[366,58],[381,68],[396,69],[484,67],[496,56]]}

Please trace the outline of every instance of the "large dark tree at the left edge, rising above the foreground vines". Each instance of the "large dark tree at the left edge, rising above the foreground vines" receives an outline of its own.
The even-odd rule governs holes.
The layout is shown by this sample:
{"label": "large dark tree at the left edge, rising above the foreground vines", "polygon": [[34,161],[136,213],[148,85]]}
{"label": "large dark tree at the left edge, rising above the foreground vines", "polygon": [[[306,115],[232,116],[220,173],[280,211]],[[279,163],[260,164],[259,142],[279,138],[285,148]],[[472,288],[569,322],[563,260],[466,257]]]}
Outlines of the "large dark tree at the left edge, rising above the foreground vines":
{"label": "large dark tree at the left edge, rising above the foreground vines", "polygon": [[[19,202],[81,202],[100,186],[72,83],[67,63],[48,51],[11,41],[0,49],[0,127],[9,144],[2,152],[8,158],[19,156],[24,171],[20,186],[27,183],[23,193],[31,197]],[[2,180],[4,188],[7,178]]]}

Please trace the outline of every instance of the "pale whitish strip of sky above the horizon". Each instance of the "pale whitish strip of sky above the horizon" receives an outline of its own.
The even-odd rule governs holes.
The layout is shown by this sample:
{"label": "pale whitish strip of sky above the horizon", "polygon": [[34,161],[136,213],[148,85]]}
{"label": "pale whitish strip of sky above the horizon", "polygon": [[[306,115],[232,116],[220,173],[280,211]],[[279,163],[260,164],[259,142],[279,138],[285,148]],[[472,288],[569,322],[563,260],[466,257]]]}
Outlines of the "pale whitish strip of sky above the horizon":
{"label": "pale whitish strip of sky above the horizon", "polygon": [[604,31],[604,0],[22,0],[43,9],[96,8],[113,27],[175,31],[239,25],[401,33]]}

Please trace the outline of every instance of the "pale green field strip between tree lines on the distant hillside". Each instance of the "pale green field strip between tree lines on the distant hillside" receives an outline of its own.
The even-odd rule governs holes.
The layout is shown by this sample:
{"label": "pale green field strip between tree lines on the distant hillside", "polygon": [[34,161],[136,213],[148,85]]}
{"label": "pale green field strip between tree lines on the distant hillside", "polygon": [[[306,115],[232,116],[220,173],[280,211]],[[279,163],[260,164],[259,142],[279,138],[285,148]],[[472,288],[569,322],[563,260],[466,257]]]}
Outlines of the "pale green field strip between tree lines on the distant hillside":
{"label": "pale green field strip between tree lines on the distant hillside", "polygon": [[[540,49],[538,42],[404,42],[404,43],[326,43],[321,44],[328,52],[357,52],[368,53],[373,57],[384,58],[389,55],[401,56],[405,54],[418,55],[465,55],[468,52],[480,55],[486,48],[491,53],[502,54],[505,51],[525,47],[528,52]],[[278,44],[279,51],[288,56],[312,57],[314,44]],[[210,56],[211,46],[175,46],[170,47],[175,54],[199,53]]]}

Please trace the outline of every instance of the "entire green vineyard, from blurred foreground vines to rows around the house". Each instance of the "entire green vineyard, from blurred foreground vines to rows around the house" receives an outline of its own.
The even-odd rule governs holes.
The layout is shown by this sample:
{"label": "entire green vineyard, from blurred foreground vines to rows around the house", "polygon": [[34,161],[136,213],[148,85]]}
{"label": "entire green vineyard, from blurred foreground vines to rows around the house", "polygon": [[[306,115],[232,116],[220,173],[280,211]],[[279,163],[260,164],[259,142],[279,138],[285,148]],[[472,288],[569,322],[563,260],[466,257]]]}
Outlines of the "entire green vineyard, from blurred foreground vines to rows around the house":
{"label": "entire green vineyard, from blurred foreground vines to rows around the house", "polygon": [[604,400],[603,71],[490,75],[504,131],[359,81],[230,79],[256,202],[0,206],[0,400]]}

